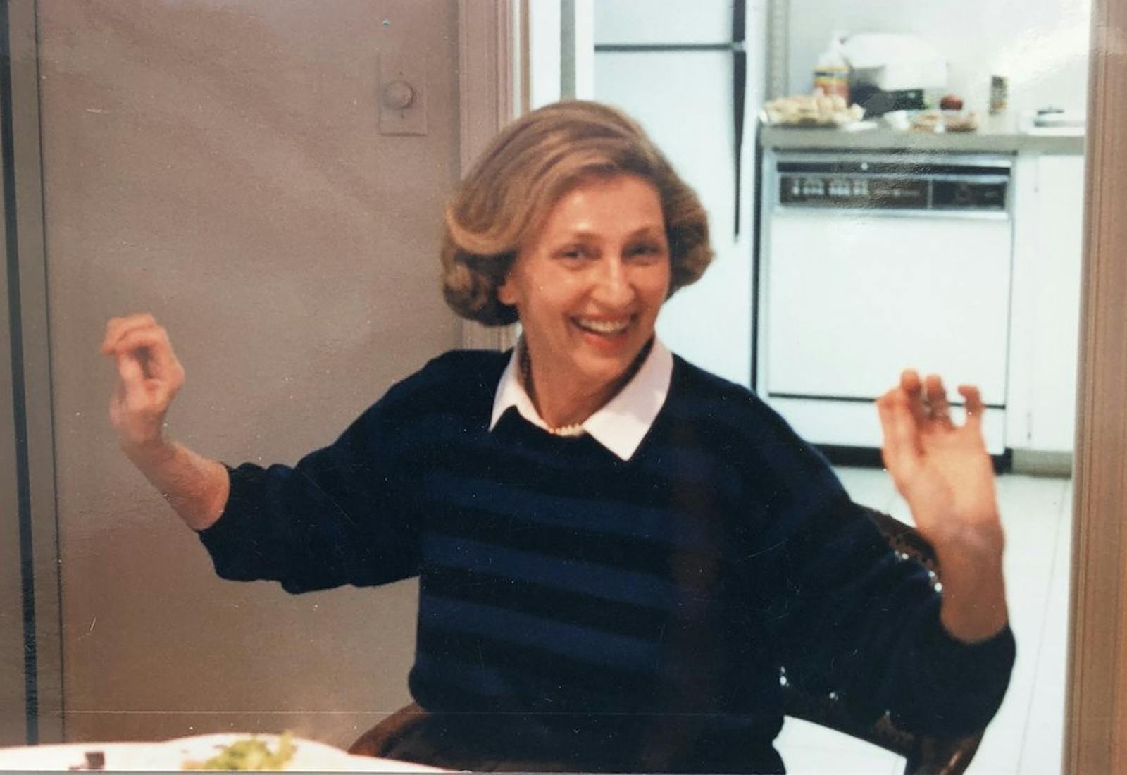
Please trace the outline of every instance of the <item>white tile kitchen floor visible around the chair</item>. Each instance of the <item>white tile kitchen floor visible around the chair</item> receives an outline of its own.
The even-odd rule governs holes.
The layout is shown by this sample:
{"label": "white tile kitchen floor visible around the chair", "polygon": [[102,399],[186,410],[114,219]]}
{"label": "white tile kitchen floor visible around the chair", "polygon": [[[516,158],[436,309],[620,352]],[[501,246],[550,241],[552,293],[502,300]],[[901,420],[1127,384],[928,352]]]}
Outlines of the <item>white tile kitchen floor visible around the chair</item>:
{"label": "white tile kitchen floor visible around the chair", "polygon": [[[911,522],[880,469],[838,467],[853,500]],[[1061,772],[1072,481],[1021,474],[997,480],[1006,533],[1005,576],[1018,659],[1002,709],[970,765],[974,775]],[[896,775],[904,759],[880,748],[788,719],[777,746],[790,773]]]}

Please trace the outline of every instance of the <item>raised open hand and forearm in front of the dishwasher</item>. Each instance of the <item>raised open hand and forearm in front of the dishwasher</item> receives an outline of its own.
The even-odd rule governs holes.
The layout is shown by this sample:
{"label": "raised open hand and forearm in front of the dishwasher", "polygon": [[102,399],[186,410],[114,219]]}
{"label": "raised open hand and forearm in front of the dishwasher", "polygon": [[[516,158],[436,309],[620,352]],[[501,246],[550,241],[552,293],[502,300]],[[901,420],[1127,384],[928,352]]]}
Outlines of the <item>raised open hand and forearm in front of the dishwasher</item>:
{"label": "raised open hand and forearm in front of the dishwasher", "polygon": [[961,425],[951,419],[943,381],[934,374],[921,380],[905,371],[877,408],[885,467],[942,568],[943,623],[957,638],[975,641],[1006,622],[1004,537],[982,434],[982,395],[970,385],[958,390],[967,410]]}

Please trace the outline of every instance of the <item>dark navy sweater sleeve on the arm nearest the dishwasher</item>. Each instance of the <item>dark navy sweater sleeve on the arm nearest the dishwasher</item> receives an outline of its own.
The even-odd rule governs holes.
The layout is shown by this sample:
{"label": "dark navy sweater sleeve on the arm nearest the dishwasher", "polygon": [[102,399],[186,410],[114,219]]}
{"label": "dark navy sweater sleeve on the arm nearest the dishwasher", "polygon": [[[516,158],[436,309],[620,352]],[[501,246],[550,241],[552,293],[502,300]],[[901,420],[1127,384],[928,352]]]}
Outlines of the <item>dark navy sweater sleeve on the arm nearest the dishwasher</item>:
{"label": "dark navy sweater sleeve on the arm nearest the dishwasher", "polygon": [[873,719],[888,711],[906,730],[983,729],[1009,685],[1010,629],[973,644],[948,634],[924,568],[893,552],[825,458],[778,422],[781,481],[761,544],[774,584],[762,605],[788,679]]}

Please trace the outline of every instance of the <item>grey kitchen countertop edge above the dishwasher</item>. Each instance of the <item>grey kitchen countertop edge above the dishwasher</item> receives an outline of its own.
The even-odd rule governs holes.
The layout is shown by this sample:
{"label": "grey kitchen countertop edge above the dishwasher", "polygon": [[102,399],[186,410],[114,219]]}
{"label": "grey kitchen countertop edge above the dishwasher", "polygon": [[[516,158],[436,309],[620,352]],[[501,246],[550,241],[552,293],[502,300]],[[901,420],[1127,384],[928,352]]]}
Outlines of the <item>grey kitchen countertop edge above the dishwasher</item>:
{"label": "grey kitchen countertop edge above the dishwasher", "polygon": [[1020,131],[1015,121],[990,116],[976,132],[930,134],[900,132],[885,125],[848,131],[834,128],[799,128],[761,126],[760,145],[778,150],[842,151],[949,151],[962,153],[1084,153],[1084,135],[1062,134],[1058,130]]}

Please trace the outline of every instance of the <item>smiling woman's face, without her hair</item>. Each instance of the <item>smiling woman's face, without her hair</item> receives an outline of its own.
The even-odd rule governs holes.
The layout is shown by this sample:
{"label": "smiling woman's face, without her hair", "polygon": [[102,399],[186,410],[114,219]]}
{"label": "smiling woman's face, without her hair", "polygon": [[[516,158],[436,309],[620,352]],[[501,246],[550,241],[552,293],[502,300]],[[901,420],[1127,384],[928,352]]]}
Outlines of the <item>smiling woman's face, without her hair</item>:
{"label": "smiling woman's face, without her hair", "polygon": [[654,336],[668,291],[658,191],[618,175],[565,194],[521,247],[497,295],[521,318],[538,393],[547,377],[592,395],[616,389]]}

